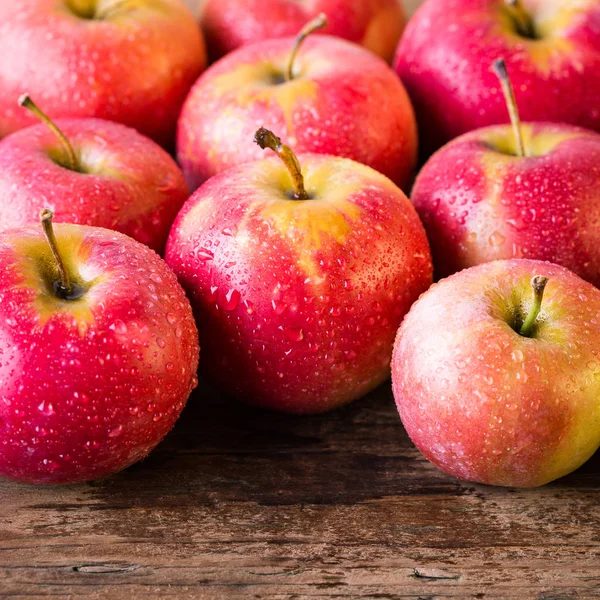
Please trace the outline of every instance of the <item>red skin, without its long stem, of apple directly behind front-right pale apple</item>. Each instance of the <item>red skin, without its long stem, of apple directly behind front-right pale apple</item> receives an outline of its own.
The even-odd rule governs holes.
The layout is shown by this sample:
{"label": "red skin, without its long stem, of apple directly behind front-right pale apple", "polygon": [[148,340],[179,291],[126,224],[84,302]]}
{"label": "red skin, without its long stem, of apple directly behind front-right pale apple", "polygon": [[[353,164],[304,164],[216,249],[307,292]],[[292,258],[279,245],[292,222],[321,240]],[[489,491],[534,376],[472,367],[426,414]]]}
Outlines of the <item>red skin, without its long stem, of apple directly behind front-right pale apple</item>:
{"label": "red skin, without its long stem, of apple directly behind front-right pale apple", "polygon": [[485,262],[561,264],[600,286],[600,135],[571,125],[523,124],[531,156],[516,156],[510,126],[453,140],[425,164],[412,202],[437,277]]}

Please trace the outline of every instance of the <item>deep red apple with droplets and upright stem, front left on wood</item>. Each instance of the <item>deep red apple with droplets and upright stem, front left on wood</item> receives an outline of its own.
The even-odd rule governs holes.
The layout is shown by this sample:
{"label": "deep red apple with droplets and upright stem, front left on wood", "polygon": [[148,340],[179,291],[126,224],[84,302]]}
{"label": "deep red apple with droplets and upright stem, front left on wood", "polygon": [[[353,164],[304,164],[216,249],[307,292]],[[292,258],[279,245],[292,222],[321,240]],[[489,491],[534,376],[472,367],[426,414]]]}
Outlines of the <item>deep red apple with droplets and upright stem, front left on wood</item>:
{"label": "deep red apple with droplets and upright stem, front left on wood", "polygon": [[198,338],[165,263],[120,233],[0,233],[0,475],[95,479],[146,456],[196,385]]}

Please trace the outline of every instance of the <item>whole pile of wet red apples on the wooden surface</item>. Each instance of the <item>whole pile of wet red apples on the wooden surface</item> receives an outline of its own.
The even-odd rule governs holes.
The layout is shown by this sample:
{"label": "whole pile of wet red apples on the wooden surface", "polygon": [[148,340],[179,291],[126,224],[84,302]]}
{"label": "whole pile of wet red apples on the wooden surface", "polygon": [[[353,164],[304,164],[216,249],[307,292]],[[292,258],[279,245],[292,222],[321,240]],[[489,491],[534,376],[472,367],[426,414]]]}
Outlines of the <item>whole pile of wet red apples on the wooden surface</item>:
{"label": "whole pile of wet red apples on the wooden surface", "polygon": [[1,475],[126,468],[198,369],[313,414],[391,362],[408,434],[466,480],[595,452],[600,4],[405,24],[396,0],[0,4]]}

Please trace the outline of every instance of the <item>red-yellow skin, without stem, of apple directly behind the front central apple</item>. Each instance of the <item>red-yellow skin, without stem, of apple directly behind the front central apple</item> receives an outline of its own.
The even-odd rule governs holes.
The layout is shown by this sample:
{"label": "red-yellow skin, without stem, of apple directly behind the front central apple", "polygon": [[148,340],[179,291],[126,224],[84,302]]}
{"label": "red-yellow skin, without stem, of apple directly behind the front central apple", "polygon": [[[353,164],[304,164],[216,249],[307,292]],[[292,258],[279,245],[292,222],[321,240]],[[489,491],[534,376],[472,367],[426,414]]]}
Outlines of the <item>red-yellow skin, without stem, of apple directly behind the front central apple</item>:
{"label": "red-yellow skin, without stem, of apple directly behind the front central apple", "polygon": [[278,132],[296,153],[351,158],[407,188],[417,159],[408,96],[381,59],[330,36],[306,40],[295,79],[283,74],[293,38],[245,46],[210,67],[188,96],[178,125],[177,157],[188,185],[260,160],[248,143],[257,127]]}

